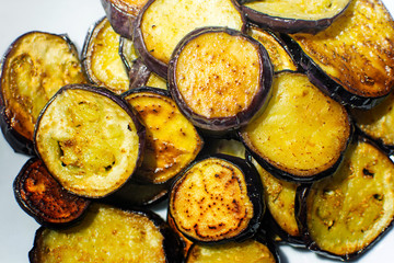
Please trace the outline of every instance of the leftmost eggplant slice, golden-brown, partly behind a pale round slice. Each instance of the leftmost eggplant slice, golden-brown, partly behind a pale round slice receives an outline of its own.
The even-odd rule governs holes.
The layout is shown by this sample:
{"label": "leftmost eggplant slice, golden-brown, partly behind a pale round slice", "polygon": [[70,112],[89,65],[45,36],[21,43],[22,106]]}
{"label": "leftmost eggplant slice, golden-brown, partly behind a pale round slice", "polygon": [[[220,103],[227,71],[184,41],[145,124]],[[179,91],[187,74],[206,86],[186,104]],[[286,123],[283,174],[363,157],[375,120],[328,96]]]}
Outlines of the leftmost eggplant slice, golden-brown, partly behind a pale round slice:
{"label": "leftmost eggplant slice, golden-brown, partly behind a pale round slice", "polygon": [[40,110],[62,85],[86,82],[71,41],[44,32],[28,32],[10,45],[0,79],[1,130],[16,152],[30,156]]}

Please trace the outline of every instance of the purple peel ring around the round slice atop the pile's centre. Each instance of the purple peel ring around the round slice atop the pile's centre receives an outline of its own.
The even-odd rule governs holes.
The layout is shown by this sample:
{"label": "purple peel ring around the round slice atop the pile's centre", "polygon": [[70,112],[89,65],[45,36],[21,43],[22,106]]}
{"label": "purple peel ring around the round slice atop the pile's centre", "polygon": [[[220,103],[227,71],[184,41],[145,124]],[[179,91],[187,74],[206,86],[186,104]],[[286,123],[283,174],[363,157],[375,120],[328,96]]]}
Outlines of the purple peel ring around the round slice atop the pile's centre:
{"label": "purple peel ring around the round slice atop the pile's centre", "polygon": [[[247,105],[247,107],[241,112],[239,112],[234,116],[229,117],[212,117],[208,118],[206,116],[199,115],[195,113],[184,101],[183,95],[181,94],[177,84],[176,84],[176,67],[177,59],[183,52],[183,48],[186,44],[188,44],[194,38],[197,38],[200,35],[207,33],[225,33],[231,36],[240,36],[250,41],[253,45],[258,48],[258,56],[260,61],[260,81],[258,83],[258,91]],[[208,134],[223,134],[235,130],[241,126],[246,125],[255,115],[258,115],[260,111],[264,110],[264,106],[269,101],[271,94],[271,83],[273,83],[274,69],[273,65],[269,60],[269,56],[264,46],[252,38],[248,35],[245,35],[239,31],[234,31],[228,27],[201,27],[190,32],[187,36],[183,38],[182,42],[178,43],[175,48],[172,58],[169,64],[169,90],[176,101],[179,110],[187,116],[192,122],[199,128],[207,130]]]}

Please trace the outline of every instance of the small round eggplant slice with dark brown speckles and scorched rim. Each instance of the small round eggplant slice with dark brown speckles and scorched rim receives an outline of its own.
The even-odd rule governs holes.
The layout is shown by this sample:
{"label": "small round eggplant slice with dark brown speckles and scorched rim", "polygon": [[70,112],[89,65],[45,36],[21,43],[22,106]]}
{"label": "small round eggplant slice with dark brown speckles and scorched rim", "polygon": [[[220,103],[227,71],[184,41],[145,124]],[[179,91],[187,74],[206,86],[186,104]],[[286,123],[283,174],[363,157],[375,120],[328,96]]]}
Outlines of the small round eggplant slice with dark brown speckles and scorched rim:
{"label": "small round eggplant slice with dark brown speckles and scorched rim", "polygon": [[260,178],[244,159],[213,155],[194,162],[173,184],[169,213],[192,241],[242,241],[260,225],[262,194]]}

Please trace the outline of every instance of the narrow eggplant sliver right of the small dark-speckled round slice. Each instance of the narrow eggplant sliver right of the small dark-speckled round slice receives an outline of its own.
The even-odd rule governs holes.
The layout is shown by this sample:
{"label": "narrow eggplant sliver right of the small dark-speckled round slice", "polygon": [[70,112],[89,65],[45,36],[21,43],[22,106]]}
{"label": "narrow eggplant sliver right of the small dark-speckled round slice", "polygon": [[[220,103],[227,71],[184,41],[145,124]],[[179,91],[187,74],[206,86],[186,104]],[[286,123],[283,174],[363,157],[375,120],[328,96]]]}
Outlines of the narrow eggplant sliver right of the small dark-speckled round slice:
{"label": "narrow eggplant sliver right of the small dark-speckled round slice", "polygon": [[248,159],[262,178],[265,203],[267,211],[269,211],[267,220],[274,220],[274,222],[269,222],[270,229],[266,230],[278,235],[281,240],[290,244],[302,244],[302,236],[296,218],[296,194],[300,184],[277,179],[259,165],[250,155]]}

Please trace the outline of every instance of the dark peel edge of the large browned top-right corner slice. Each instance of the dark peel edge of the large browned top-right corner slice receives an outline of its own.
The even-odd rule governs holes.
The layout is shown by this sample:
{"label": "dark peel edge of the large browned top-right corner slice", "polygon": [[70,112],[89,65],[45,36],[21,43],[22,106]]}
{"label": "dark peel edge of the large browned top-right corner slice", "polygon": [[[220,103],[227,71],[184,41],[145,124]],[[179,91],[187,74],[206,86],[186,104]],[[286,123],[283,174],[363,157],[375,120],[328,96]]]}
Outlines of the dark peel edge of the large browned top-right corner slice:
{"label": "dark peel edge of the large browned top-right corner slice", "polygon": [[310,81],[321,89],[333,100],[361,110],[370,110],[381,103],[389,94],[383,96],[361,96],[346,90],[340,83],[328,77],[313,59],[311,59],[289,35],[281,34],[280,37],[288,45],[288,48],[301,68],[305,71]]}

